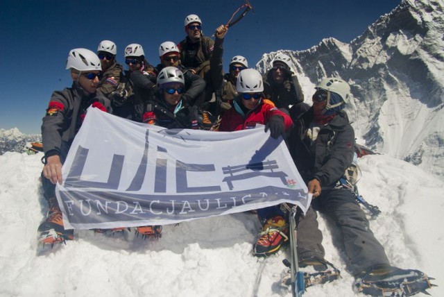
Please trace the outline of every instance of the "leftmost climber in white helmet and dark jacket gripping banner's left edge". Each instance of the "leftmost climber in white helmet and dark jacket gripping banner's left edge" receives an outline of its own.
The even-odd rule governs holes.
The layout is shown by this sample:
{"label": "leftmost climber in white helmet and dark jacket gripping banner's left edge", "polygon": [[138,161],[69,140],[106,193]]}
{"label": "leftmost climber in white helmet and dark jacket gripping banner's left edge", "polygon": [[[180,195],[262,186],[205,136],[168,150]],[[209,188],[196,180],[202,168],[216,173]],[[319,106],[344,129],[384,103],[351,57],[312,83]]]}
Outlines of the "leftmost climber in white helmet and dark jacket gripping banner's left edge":
{"label": "leftmost climber in white helmet and dark jacket gripping banner's left edge", "polygon": [[96,92],[102,68],[95,53],[88,49],[72,49],[67,69],[73,80],[72,86],[52,94],[42,123],[42,187],[49,211],[37,230],[40,241],[51,245],[74,239],[73,230],[65,230],[63,226],[55,193],[56,183],[62,183],[62,164],[69,146],[83,123],[87,108],[92,106],[105,112],[111,111],[109,99]]}

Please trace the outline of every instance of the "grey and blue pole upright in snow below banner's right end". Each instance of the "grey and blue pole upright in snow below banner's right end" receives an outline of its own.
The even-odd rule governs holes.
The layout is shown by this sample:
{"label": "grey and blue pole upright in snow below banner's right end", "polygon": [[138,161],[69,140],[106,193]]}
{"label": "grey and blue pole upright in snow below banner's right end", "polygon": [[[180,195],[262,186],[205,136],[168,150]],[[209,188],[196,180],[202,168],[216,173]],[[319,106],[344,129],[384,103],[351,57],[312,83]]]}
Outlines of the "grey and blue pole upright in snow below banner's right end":
{"label": "grey and blue pole upright in snow below banner's right end", "polygon": [[287,203],[284,206],[289,210],[289,223],[290,223],[290,250],[291,250],[291,262],[290,262],[290,280],[291,280],[291,294],[293,297],[300,297],[304,294],[304,273],[299,270],[298,260],[298,240],[297,240],[297,228],[296,228],[296,211],[297,206],[289,207]]}

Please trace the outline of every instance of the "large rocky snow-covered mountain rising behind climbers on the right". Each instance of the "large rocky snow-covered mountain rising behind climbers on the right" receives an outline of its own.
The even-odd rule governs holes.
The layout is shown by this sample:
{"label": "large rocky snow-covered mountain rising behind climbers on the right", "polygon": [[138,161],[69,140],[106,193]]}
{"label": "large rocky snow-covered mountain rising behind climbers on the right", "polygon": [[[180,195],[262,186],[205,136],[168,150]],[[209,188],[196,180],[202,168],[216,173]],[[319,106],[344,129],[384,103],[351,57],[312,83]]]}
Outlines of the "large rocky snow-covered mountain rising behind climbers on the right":
{"label": "large rocky snow-covered mountain rising behind climbers on the right", "polygon": [[[404,0],[350,44],[328,38],[282,52],[293,59],[307,103],[321,78],[347,80],[357,137],[444,177],[443,32],[442,0]],[[257,69],[268,70],[277,53],[264,54]]]}

